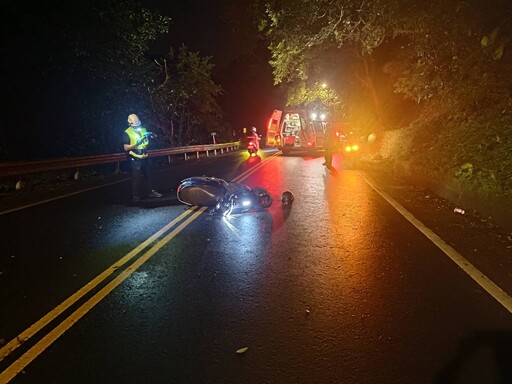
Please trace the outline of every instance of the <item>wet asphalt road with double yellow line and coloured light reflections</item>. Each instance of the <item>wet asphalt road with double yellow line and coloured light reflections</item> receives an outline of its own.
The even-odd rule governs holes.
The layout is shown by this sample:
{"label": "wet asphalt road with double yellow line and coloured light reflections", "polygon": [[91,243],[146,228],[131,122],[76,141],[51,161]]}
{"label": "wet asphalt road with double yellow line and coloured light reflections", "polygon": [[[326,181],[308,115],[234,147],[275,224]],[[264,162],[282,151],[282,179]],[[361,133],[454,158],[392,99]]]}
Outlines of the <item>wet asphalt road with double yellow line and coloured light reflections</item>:
{"label": "wet asphalt road with double yellow line and coloured light reflections", "polygon": [[[160,172],[166,197],[145,207],[119,183],[1,215],[0,383],[512,382],[506,234],[322,162],[237,152]],[[179,180],[200,175],[241,176],[274,204],[228,219],[179,204]]]}

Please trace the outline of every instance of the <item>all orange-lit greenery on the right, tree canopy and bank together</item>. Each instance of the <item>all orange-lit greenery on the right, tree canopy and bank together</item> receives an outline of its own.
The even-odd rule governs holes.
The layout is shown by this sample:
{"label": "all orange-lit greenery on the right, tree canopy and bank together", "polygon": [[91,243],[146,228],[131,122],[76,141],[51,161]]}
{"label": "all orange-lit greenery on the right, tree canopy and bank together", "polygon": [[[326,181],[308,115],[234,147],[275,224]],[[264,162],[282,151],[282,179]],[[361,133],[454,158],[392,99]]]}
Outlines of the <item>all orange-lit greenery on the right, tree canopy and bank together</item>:
{"label": "all orange-lit greenery on the right, tree canopy and bank together", "polygon": [[289,105],[314,106],[325,82],[323,106],[376,138],[367,155],[381,166],[512,200],[510,1],[262,0],[252,12]]}

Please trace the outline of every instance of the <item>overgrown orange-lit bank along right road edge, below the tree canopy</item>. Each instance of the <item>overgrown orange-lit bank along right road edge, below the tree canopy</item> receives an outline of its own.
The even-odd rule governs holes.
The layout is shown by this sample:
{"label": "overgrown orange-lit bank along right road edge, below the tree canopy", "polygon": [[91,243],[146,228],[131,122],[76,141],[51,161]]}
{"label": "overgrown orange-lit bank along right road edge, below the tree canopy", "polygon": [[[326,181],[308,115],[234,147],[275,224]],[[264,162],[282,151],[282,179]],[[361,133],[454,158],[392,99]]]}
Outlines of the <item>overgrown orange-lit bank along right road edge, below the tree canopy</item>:
{"label": "overgrown orange-lit bank along right road edge, below the tree canopy", "polygon": [[418,121],[379,140],[379,167],[512,231],[512,116],[473,113]]}

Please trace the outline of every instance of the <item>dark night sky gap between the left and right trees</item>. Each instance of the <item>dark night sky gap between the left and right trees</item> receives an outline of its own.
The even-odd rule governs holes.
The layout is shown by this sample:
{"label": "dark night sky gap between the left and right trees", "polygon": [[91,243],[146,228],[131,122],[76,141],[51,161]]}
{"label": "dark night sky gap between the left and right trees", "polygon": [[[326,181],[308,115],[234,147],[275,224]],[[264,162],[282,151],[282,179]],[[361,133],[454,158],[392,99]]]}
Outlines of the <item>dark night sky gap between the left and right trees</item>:
{"label": "dark night sky gap between the left and right trees", "polygon": [[[171,17],[169,36],[153,49],[164,53],[169,45],[184,43],[191,51],[211,56],[214,79],[225,91],[219,102],[226,120],[237,130],[256,126],[262,131],[273,109],[282,107],[282,96],[273,86],[269,57],[262,54],[261,42],[258,47],[256,31],[253,36],[233,33],[222,19],[227,2],[144,0],[143,5]],[[248,60],[251,68],[244,67]]]}

